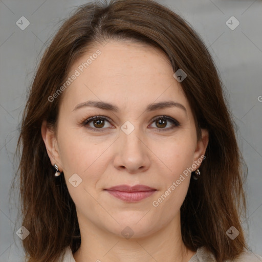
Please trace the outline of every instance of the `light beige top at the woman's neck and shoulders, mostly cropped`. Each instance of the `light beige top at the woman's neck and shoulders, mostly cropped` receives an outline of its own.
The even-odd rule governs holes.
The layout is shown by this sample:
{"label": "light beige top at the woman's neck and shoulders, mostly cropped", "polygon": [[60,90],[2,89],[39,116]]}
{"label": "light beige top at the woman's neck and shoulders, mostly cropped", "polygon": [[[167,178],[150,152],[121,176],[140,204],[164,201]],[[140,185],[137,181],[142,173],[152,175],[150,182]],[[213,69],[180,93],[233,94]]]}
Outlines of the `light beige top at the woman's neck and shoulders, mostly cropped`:
{"label": "light beige top at the woman's neck and shoulders, mostly cropped", "polygon": [[[59,262],[76,262],[70,247],[65,248]],[[188,262],[215,262],[215,258],[213,254],[209,253],[203,246],[198,248],[197,253],[195,253]],[[262,262],[262,256],[247,251],[239,256],[238,259],[234,259],[233,261],[227,260],[225,262]]]}

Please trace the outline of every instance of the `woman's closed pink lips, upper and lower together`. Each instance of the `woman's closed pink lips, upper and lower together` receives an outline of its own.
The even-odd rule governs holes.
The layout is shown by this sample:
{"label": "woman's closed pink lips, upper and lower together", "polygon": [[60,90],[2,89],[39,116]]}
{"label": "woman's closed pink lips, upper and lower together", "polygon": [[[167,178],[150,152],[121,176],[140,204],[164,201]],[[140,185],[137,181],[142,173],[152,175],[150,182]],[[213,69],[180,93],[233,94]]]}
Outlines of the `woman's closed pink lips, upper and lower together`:
{"label": "woman's closed pink lips, upper and lower together", "polygon": [[136,202],[148,198],[156,191],[155,188],[145,185],[136,185],[133,187],[128,185],[119,185],[104,190],[107,190],[108,193],[112,194],[114,197],[127,202]]}

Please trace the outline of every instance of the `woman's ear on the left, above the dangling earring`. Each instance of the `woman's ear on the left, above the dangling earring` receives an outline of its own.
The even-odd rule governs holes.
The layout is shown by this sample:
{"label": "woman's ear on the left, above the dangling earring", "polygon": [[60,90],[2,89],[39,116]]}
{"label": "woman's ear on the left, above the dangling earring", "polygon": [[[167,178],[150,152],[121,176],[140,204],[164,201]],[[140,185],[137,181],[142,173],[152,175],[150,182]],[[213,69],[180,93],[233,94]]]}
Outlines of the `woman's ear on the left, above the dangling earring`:
{"label": "woman's ear on the left, above the dangling earring", "polygon": [[43,142],[46,145],[47,154],[49,156],[51,164],[56,164],[58,166],[59,171],[62,172],[63,168],[59,157],[57,139],[55,137],[54,130],[48,127],[46,120],[42,122],[41,135]]}

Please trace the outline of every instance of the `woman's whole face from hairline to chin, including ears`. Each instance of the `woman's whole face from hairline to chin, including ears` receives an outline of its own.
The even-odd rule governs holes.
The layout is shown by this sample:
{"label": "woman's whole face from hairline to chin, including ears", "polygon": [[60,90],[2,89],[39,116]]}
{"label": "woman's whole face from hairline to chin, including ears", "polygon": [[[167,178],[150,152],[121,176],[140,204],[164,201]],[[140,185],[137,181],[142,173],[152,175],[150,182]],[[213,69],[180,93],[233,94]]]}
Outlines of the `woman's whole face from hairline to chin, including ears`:
{"label": "woman's whole face from hairline to chin, including ears", "polygon": [[[72,65],[69,77],[77,76],[61,94],[57,136],[47,130],[48,153],[64,172],[80,228],[150,235],[180,221],[186,170],[201,159],[208,135],[202,130],[197,141],[189,103],[161,51],[116,41],[97,49]],[[118,185],[154,190],[105,190]]]}

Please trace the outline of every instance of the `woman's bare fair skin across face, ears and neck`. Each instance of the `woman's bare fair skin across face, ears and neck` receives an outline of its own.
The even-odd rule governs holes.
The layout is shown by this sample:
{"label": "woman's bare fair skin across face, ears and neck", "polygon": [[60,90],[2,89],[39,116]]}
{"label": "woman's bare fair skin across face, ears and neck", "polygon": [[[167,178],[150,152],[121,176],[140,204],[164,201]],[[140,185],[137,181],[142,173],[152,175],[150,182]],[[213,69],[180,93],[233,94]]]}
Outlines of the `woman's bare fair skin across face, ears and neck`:
{"label": "woman's bare fair skin across face, ears and neck", "polygon": [[[208,132],[203,129],[202,140],[197,141],[188,100],[161,51],[113,40],[97,49],[100,56],[62,94],[57,133],[42,123],[50,161],[63,171],[76,205],[82,243],[74,258],[76,262],[149,262],[163,261],[163,257],[167,262],[188,261],[195,252],[183,244],[180,207],[190,173],[158,207],[152,202],[205,154]],[[69,76],[96,50],[78,59]],[[119,112],[95,107],[74,110],[88,100],[110,102]],[[148,104],[162,101],[178,102],[186,112],[180,107],[145,112]],[[97,115],[112,123],[81,124]],[[176,119],[180,126],[170,120],[166,124],[152,121],[161,115]],[[126,121],[135,127],[129,135],[120,129]],[[82,179],[77,187],[69,183],[74,173]],[[139,202],[125,202],[103,190],[120,184],[143,184],[157,191]],[[121,234],[127,226],[134,232],[129,239]]]}

